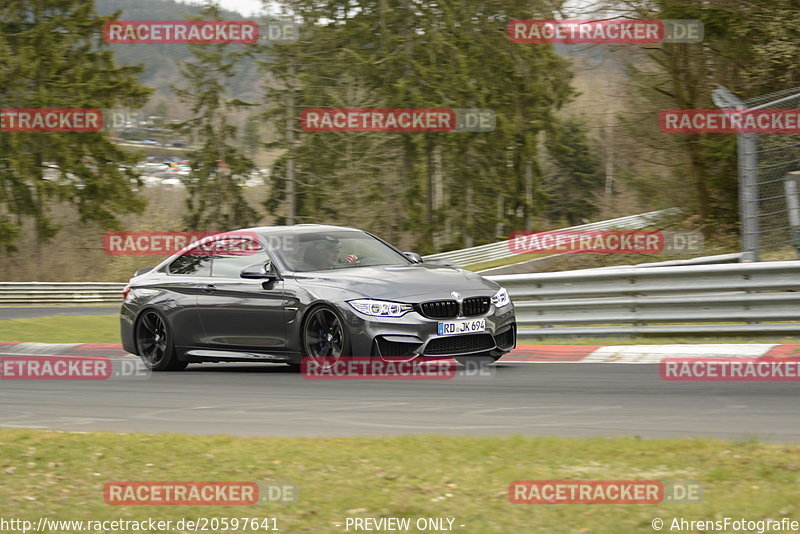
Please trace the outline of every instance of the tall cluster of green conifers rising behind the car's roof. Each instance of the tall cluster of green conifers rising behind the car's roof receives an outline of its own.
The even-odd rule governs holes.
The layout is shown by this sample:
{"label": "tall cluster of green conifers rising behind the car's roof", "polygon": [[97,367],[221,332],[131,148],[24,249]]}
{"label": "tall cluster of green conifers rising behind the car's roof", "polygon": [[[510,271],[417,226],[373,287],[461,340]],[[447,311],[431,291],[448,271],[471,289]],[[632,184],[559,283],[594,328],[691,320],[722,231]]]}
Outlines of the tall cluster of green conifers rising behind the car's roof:
{"label": "tall cluster of green conifers rising behind the car's roof", "polygon": [[[298,42],[270,47],[263,62],[274,79],[268,98],[275,103],[277,130],[287,121],[287,94],[294,96],[295,117],[314,107],[483,108],[497,115],[491,133],[364,134],[376,142],[387,136],[385,148],[393,149],[387,153],[357,134],[300,133],[291,153],[301,220],[358,224],[372,213],[389,213],[377,230],[411,234],[425,253],[493,241],[498,230],[520,228],[538,212],[544,197],[535,164],[537,134],[570,98],[571,74],[550,45],[514,43],[506,25],[513,18],[548,18],[544,2],[282,5],[303,21],[303,30]],[[363,92],[360,106],[348,97],[354,87]],[[277,146],[288,148],[285,140]],[[353,161],[379,157],[383,168],[348,171]],[[288,196],[282,172],[272,175],[269,206],[277,208]],[[374,194],[345,205],[326,202],[325,187],[337,175],[352,179],[349,188]]]}

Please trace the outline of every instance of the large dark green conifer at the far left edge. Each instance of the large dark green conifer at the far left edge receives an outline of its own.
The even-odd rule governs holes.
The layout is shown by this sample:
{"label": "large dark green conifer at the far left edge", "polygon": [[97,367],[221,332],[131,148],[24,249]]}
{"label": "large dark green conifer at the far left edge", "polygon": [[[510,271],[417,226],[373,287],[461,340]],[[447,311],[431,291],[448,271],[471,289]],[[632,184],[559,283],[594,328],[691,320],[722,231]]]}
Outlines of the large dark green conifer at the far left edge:
{"label": "large dark green conifer at the far left edge", "polygon": [[[101,41],[92,0],[4,0],[0,4],[0,108],[136,107],[150,89],[140,67],[119,67]],[[0,246],[14,248],[33,221],[36,243],[59,230],[50,203],[68,201],[81,220],[108,228],[140,212],[136,158],[107,134],[0,132]]]}

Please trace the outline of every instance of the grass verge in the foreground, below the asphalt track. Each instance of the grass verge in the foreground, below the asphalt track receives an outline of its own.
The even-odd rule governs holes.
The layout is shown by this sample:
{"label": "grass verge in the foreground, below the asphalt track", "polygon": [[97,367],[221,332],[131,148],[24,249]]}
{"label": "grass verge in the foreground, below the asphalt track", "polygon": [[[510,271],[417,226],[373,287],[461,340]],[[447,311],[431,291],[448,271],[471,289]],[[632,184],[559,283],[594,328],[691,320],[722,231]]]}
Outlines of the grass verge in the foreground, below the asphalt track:
{"label": "grass verge in the foreground, below the asphalt track", "polygon": [[[277,517],[281,532],[341,533],[346,517],[454,517],[474,533],[652,532],[675,517],[800,516],[800,446],[704,439],[278,439],[0,430],[5,516],[141,520]],[[515,480],[691,480],[702,501],[516,505]],[[109,481],[281,481],[298,501],[255,506],[111,506]],[[11,513],[13,512],[13,513]],[[683,530],[684,532],[693,530]],[[417,532],[411,530],[410,532]]]}

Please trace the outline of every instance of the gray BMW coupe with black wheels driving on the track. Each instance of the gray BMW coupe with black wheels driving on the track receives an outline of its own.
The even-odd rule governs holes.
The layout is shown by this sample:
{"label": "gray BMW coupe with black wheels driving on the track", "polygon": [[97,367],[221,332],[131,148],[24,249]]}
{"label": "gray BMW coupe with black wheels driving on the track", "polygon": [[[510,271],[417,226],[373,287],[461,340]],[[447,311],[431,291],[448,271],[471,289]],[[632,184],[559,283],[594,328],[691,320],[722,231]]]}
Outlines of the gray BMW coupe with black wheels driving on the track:
{"label": "gray BMW coupe with black wheels driving on the track", "polygon": [[516,344],[514,306],[495,282],[312,224],[218,234],[138,271],[120,328],[155,371],[304,357],[486,363]]}

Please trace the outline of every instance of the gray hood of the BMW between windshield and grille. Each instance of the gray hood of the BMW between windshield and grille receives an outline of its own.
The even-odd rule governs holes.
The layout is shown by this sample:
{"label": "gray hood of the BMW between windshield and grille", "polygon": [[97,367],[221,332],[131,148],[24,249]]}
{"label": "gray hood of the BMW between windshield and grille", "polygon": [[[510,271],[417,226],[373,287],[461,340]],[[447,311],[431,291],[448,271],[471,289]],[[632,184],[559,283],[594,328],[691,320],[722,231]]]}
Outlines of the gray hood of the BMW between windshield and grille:
{"label": "gray hood of the BMW between windshield and grille", "polygon": [[500,287],[471,271],[424,264],[315,271],[297,273],[295,278],[308,289],[313,286],[335,287],[364,297],[409,303],[452,299],[452,291],[463,297],[488,296]]}

